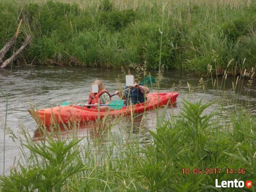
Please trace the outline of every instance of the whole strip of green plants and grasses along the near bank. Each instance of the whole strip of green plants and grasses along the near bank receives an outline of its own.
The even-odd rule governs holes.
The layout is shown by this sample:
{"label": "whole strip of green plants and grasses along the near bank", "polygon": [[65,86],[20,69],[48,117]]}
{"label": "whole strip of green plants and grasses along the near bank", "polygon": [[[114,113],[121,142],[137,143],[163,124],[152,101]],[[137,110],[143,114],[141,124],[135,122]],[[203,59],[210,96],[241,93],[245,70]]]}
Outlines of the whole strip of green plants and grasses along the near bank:
{"label": "whole strip of green plants and grasses along the near bank", "polygon": [[[76,120],[63,128],[38,125],[37,141],[21,127],[25,138],[10,134],[20,142],[22,158],[9,175],[0,176],[0,190],[216,191],[216,179],[254,183],[255,117],[237,111],[236,105],[232,112],[225,110],[218,116],[208,112],[212,104],[183,101],[181,112],[170,121],[166,105],[155,131],[141,130],[141,125],[137,130],[130,127],[130,120],[105,116],[85,134],[81,145]],[[119,130],[113,125],[120,125]],[[188,174],[183,173],[187,168]],[[226,168],[244,168],[246,172],[226,174]],[[198,174],[193,174],[194,169]],[[203,174],[206,169],[221,172]]]}

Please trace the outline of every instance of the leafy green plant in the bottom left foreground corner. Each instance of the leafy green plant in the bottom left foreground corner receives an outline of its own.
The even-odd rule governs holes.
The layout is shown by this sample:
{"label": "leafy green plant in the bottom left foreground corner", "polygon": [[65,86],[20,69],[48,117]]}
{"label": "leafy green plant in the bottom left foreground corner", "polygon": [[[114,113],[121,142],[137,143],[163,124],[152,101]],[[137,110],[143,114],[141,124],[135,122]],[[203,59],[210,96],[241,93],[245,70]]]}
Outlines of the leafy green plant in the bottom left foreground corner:
{"label": "leafy green plant in the bottom left foreground corner", "polygon": [[41,160],[23,167],[20,171],[11,170],[9,177],[0,177],[3,191],[61,191],[69,177],[87,169],[79,160],[80,140],[48,138],[47,143],[32,142],[25,145],[32,156],[30,160]]}

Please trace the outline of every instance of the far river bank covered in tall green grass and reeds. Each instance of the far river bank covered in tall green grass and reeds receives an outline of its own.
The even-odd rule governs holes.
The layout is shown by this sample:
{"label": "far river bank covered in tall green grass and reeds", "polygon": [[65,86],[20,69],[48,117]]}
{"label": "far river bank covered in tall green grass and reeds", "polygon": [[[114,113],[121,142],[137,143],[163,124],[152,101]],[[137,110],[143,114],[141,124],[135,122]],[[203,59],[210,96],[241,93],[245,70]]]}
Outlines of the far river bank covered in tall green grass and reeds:
{"label": "far river bank covered in tall green grass and reeds", "polygon": [[[120,68],[133,63],[218,75],[241,75],[256,63],[255,2],[1,1],[0,47],[33,40],[15,65]],[[11,51],[12,52],[12,51]],[[6,55],[6,57],[10,56]],[[226,75],[225,74],[225,75]]]}

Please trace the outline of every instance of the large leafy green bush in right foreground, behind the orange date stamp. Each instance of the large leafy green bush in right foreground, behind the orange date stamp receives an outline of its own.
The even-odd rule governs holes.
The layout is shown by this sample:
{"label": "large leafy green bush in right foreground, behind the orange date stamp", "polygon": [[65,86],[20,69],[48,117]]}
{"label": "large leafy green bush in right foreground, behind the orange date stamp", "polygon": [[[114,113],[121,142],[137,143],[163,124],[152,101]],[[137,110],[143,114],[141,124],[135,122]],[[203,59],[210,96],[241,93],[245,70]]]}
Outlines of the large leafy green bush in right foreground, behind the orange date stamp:
{"label": "large leafy green bush in right foreground, behind the orange date stamp", "polygon": [[[215,180],[233,180],[226,174],[227,167],[246,167],[239,180],[255,178],[253,160],[256,140],[256,122],[248,114],[231,115],[232,131],[227,125],[213,120],[214,114],[205,114],[211,104],[183,102],[181,114],[171,122],[150,131],[153,137],[136,165],[142,185],[149,191],[211,191]],[[243,117],[243,118],[241,118]],[[226,128],[227,128],[226,127]],[[236,145],[234,145],[236,144]],[[220,174],[183,174],[182,169],[221,168]],[[237,169],[236,168],[236,169]],[[235,177],[236,178],[236,177]],[[146,191],[146,190],[145,190]],[[233,190],[229,190],[233,191]]]}

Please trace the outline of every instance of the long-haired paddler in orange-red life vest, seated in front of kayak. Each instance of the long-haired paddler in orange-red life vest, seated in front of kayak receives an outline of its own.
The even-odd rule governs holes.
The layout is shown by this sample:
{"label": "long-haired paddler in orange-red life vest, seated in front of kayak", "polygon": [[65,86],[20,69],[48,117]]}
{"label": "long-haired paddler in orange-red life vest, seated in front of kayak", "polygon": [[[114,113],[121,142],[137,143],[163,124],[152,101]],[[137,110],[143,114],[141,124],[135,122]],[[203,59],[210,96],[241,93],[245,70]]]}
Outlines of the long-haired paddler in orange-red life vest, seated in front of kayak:
{"label": "long-haired paddler in orange-red life vest, seated in front of kayak", "polygon": [[[101,80],[95,80],[93,82],[94,85],[98,85],[98,93],[90,92],[89,98],[88,98],[88,104],[109,104],[111,101],[111,96],[107,90],[105,90],[105,87]],[[95,109],[96,107],[87,107],[90,109]],[[107,110],[109,106],[100,106],[101,110]]]}

